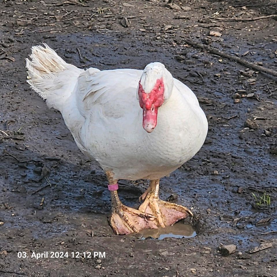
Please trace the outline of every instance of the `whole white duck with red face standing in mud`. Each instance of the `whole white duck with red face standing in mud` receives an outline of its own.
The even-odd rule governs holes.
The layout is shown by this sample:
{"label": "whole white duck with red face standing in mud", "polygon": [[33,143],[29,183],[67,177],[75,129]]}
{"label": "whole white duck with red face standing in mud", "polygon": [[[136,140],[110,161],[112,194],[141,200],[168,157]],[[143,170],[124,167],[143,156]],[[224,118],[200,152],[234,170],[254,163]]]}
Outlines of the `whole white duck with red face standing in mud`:
{"label": "whole white duck with red face standing in mud", "polygon": [[[159,199],[159,179],[190,160],[207,135],[207,119],[194,93],[162,63],[144,70],[82,70],[44,44],[27,59],[28,83],[59,110],[80,150],[96,159],[108,178],[117,234],[165,227],[192,216]],[[118,179],[149,179],[138,210],[121,203]]]}

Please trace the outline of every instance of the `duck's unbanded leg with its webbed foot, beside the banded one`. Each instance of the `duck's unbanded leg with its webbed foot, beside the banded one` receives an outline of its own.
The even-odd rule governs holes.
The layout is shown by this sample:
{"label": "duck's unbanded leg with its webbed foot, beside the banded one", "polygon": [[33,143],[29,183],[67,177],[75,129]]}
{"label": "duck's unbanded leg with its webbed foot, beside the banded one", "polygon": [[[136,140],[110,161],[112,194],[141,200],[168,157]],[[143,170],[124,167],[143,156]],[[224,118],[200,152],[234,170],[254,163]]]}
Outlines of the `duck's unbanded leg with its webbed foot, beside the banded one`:
{"label": "duck's unbanded leg with its webbed foot, beside the banded one", "polygon": [[159,181],[159,179],[150,181],[147,195],[144,193],[140,198],[145,200],[139,210],[156,216],[156,221],[161,227],[174,224],[187,216],[193,216],[188,208],[159,199]]}

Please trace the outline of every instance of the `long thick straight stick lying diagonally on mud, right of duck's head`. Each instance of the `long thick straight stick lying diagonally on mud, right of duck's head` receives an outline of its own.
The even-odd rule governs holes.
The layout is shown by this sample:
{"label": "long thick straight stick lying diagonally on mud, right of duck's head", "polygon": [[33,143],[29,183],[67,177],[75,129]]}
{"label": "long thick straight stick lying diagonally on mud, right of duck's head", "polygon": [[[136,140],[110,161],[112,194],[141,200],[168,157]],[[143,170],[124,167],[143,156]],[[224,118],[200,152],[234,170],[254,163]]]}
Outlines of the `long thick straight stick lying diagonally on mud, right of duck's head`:
{"label": "long thick straight stick lying diagonally on mud, right of duck's head", "polygon": [[202,48],[202,49],[206,49],[209,52],[214,53],[216,55],[219,55],[219,56],[222,56],[222,57],[225,57],[225,58],[237,61],[237,62],[239,62],[239,63],[241,63],[243,65],[246,65],[247,67],[250,67],[250,68],[253,68],[253,69],[257,70],[257,71],[265,72],[267,74],[270,74],[270,75],[273,75],[273,76],[277,77],[277,71],[275,71],[275,70],[268,69],[268,68],[265,68],[265,67],[263,67],[261,65],[257,65],[257,64],[254,64],[254,63],[250,63],[249,61],[241,59],[241,58],[239,58],[237,56],[229,55],[229,54],[227,54],[225,52],[217,50],[214,47],[211,47],[211,46],[199,43],[199,42],[195,42],[195,41],[193,41],[193,40],[191,40],[189,38],[183,38],[183,40],[186,43],[190,44],[190,45],[193,45],[193,46],[196,46],[196,47],[199,47],[199,48]]}

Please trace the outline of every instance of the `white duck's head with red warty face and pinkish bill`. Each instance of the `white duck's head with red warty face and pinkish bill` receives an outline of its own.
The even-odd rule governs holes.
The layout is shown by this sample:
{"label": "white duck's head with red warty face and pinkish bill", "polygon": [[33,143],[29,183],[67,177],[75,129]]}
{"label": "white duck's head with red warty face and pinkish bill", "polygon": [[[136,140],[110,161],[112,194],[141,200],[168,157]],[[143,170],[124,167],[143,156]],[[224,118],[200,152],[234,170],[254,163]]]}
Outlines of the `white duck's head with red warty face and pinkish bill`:
{"label": "white duck's head with red warty face and pinkish bill", "polygon": [[142,125],[151,133],[157,125],[158,108],[171,96],[173,78],[162,63],[146,65],[139,81],[139,104],[143,109]]}

